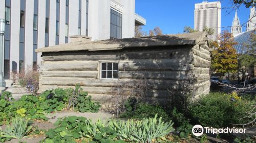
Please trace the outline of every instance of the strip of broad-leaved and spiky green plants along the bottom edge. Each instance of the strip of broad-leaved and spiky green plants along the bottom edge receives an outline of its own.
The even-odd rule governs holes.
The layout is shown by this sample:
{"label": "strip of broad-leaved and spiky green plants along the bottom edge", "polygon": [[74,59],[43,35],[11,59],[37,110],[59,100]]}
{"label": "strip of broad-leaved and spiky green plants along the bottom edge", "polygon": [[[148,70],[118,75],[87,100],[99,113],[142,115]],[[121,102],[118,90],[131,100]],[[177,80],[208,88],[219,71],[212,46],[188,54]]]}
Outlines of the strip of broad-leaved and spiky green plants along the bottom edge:
{"label": "strip of broad-leaved and spiky green plants along the bottom edge", "polygon": [[44,142],[75,142],[82,139],[89,142],[152,142],[172,132],[172,121],[162,118],[143,118],[143,120],[110,120],[102,123],[91,122],[85,117],[69,116],[60,119],[57,128],[50,129]]}

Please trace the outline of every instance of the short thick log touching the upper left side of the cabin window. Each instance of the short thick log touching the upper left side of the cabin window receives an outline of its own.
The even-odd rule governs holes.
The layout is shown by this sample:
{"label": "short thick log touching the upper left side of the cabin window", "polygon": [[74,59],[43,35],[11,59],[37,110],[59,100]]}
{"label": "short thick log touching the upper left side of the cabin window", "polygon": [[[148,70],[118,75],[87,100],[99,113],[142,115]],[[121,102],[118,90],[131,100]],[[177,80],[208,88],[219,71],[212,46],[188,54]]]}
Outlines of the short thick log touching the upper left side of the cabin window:
{"label": "short thick log touching the upper left side of the cabin window", "polygon": [[97,70],[98,61],[45,61],[44,70]]}

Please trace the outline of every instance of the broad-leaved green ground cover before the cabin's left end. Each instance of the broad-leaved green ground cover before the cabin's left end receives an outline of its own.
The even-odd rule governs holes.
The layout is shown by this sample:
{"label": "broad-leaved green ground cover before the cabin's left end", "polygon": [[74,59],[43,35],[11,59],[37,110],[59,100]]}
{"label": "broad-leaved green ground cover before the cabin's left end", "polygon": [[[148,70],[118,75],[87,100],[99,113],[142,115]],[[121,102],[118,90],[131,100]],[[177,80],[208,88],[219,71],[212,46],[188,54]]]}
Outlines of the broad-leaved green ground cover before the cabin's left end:
{"label": "broad-leaved green ground cover before the cabin's left end", "polygon": [[46,113],[63,110],[68,107],[71,94],[79,90],[72,105],[72,110],[80,112],[98,112],[100,104],[91,100],[87,92],[82,91],[79,85],[75,89],[57,88],[42,92],[39,96],[24,95],[19,100],[14,101],[10,92],[3,92],[0,97],[0,125],[8,124],[12,117],[17,115],[31,118],[32,120],[44,120],[48,118]]}

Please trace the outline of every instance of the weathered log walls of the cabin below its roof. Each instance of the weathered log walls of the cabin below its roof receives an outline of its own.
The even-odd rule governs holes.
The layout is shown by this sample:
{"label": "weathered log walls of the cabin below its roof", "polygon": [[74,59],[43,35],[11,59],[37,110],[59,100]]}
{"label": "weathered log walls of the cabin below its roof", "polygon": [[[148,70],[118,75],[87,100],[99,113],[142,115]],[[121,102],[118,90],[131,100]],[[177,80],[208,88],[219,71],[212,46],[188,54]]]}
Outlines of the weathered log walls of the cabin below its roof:
{"label": "weathered log walls of the cabin below its roof", "polygon": [[93,98],[109,96],[117,80],[100,79],[100,62],[119,62],[119,80],[145,75],[152,87],[148,96],[165,98],[168,88],[185,80],[188,71],[199,75],[199,93],[209,92],[210,54],[207,45],[133,48],[112,51],[43,53],[39,91],[80,83]]}

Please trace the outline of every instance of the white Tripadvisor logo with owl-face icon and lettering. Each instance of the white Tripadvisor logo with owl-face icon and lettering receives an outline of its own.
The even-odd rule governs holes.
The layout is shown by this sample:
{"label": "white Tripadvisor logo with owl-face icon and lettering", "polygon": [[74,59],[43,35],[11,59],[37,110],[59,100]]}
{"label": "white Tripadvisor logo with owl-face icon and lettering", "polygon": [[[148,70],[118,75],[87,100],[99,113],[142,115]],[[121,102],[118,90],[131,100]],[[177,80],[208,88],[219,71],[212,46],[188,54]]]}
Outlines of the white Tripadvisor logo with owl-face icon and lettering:
{"label": "white Tripadvisor logo with owl-face icon and lettering", "polygon": [[245,128],[212,128],[212,127],[202,127],[201,125],[195,125],[192,128],[192,133],[195,136],[200,136],[203,133],[212,133],[212,134],[216,134],[216,133],[245,133]]}

